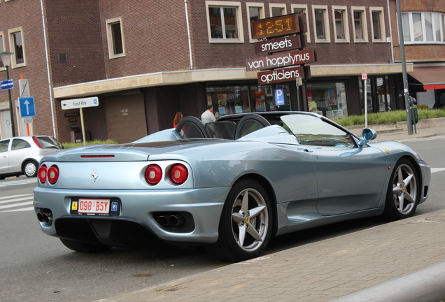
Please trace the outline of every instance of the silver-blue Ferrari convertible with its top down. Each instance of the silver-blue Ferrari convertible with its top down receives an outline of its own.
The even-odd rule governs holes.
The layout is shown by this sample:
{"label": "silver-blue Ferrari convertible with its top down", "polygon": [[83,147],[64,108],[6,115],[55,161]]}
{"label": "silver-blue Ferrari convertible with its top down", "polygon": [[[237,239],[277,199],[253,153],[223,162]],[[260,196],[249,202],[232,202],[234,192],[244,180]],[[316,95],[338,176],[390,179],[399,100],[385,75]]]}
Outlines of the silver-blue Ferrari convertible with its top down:
{"label": "silver-blue Ferrari convertible with its top down", "polygon": [[224,261],[260,256],[271,236],[381,215],[428,197],[430,167],[401,143],[369,143],[315,113],[225,115],[123,145],[44,157],[34,208],[71,250],[199,246]]}

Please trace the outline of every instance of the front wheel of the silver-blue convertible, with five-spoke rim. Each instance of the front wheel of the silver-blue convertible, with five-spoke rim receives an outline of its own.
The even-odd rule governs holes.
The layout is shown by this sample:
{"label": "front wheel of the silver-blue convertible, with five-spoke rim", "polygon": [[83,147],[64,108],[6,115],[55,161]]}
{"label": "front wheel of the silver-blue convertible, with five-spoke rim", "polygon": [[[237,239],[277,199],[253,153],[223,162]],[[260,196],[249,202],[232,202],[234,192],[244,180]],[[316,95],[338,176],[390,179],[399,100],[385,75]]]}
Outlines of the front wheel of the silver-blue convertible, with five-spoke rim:
{"label": "front wheel of the silver-blue convertible, with five-spoke rim", "polygon": [[394,167],[386,193],[383,218],[401,220],[414,215],[421,197],[418,172],[408,159],[400,159]]}

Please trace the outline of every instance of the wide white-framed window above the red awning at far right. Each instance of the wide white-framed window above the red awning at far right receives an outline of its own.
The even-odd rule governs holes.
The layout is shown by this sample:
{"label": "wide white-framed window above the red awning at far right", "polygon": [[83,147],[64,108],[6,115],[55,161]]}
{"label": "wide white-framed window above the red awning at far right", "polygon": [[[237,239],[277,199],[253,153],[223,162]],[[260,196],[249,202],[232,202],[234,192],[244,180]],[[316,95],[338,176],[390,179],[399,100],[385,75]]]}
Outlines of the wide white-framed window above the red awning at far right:
{"label": "wide white-framed window above the red awning at far right", "polygon": [[444,13],[402,13],[402,27],[405,44],[445,42]]}

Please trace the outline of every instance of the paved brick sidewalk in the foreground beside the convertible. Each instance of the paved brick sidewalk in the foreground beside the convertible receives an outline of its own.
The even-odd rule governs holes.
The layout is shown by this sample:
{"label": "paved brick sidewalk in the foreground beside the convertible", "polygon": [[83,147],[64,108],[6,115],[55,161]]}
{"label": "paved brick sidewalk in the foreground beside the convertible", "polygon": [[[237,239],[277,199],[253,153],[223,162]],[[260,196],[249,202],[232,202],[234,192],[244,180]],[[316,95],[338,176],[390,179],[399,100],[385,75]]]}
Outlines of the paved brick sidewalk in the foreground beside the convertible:
{"label": "paved brick sidewalk in the foreground beside the convertible", "polygon": [[101,301],[332,301],[444,262],[444,230],[439,210]]}

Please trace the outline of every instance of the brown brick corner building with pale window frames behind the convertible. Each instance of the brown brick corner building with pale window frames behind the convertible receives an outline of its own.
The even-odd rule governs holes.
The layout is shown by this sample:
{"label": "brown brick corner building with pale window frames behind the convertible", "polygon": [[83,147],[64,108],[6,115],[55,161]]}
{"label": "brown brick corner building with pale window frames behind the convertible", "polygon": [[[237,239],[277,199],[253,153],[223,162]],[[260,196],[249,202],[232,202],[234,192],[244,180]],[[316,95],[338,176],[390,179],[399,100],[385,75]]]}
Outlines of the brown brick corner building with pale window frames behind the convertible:
{"label": "brown brick corner building with pale window frames behind the convertible", "polygon": [[[59,141],[80,135],[79,109],[62,110],[61,101],[88,96],[98,96],[99,106],[83,108],[87,139],[120,143],[171,127],[176,111],[199,117],[208,103],[216,115],[255,110],[360,115],[362,73],[369,77],[366,110],[404,106],[393,0],[0,1],[1,50],[15,52],[10,78],[28,79],[36,102],[31,131]],[[306,49],[317,57],[309,64],[311,78],[302,87],[295,81],[258,85],[257,71],[246,71],[246,59],[267,54],[255,54],[250,20],[289,13],[306,14]],[[443,52],[444,45],[434,46]],[[411,51],[416,52],[407,54]],[[284,106],[274,103],[276,88],[285,89]],[[17,103],[20,92],[11,92]],[[8,137],[7,104],[2,92],[2,138]],[[17,108],[13,111],[16,133],[24,133]]]}

